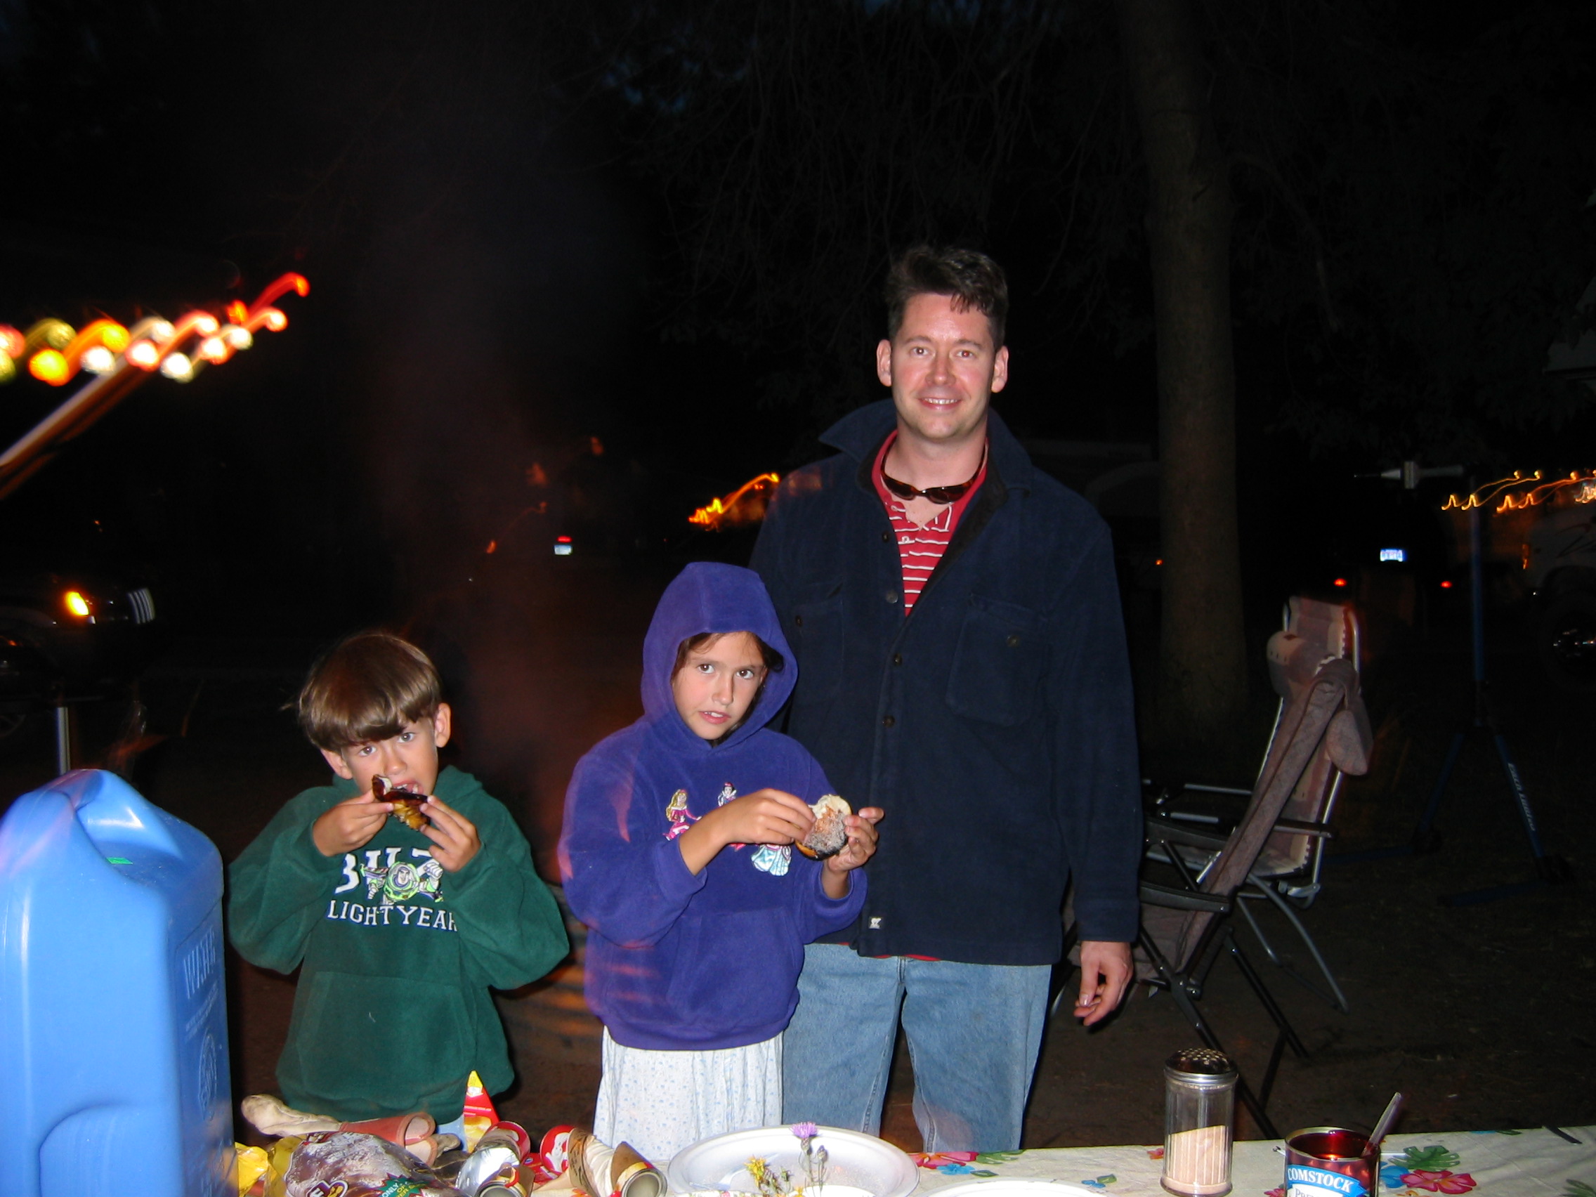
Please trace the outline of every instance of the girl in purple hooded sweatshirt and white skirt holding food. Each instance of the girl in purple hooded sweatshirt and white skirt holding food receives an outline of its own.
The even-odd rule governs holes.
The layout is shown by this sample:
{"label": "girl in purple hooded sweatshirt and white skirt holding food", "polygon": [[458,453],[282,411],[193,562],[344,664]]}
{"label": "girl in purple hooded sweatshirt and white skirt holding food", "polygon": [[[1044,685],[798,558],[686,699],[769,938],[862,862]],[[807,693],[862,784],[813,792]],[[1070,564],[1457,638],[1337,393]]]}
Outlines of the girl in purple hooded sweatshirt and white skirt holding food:
{"label": "girl in purple hooded sweatshirt and white skirt holding food", "polygon": [[830,792],[764,725],[796,669],[752,570],[689,565],[643,642],[643,718],[576,766],[560,876],[587,924],[587,1005],[603,1020],[594,1132],[653,1160],[779,1125],[780,1033],[803,945],[846,927],[881,811],[849,816],[820,862],[793,851]]}

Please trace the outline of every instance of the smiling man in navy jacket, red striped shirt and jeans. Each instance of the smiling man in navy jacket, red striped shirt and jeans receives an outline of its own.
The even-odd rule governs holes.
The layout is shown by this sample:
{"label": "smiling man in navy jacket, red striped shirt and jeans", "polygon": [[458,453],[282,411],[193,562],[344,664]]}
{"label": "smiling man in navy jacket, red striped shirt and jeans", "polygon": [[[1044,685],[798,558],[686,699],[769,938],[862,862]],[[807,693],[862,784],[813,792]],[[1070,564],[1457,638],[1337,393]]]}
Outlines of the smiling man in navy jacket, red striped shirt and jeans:
{"label": "smiling man in navy jacket, red striped shirt and jeans", "polygon": [[1108,528],[990,412],[1002,270],[913,249],[887,281],[891,402],[793,472],[753,567],[798,658],[787,731],[886,809],[859,922],[806,950],[788,1122],[875,1133],[902,1010],[926,1151],[1020,1146],[1074,876],[1076,1017],[1132,975],[1141,808]]}

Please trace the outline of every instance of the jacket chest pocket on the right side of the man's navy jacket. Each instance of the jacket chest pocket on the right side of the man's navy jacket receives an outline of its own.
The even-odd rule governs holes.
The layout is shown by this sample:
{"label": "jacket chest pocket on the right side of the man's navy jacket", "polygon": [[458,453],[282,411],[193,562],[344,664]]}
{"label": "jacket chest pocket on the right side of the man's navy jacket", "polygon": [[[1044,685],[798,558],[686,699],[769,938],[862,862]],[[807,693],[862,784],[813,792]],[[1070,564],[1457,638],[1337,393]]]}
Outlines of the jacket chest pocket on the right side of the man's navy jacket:
{"label": "jacket chest pocket on the right side of the man's navy jacket", "polygon": [[998,598],[970,595],[953,650],[948,705],[959,715],[1013,726],[1041,707],[1047,658],[1036,611]]}

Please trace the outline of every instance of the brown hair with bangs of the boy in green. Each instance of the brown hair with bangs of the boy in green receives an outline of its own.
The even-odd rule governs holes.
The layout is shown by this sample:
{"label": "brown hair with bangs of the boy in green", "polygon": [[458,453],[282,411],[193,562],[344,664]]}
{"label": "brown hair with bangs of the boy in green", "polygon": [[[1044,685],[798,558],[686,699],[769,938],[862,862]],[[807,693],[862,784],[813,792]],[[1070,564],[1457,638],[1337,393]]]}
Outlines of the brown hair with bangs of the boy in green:
{"label": "brown hair with bangs of the boy in green", "polygon": [[356,632],[311,666],[295,707],[310,742],[338,752],[397,736],[442,701],[426,653],[391,632]]}

